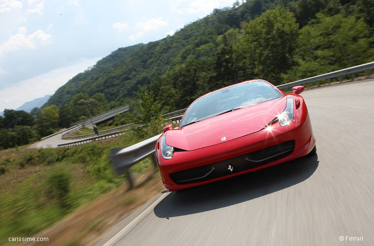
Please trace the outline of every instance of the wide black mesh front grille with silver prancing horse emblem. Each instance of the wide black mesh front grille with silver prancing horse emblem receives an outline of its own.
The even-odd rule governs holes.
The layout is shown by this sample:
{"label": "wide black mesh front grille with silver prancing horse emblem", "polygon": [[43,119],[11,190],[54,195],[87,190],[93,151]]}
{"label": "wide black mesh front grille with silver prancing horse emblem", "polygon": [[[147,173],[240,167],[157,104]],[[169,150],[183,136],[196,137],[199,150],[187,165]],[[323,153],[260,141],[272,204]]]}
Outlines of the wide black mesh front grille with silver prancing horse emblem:
{"label": "wide black mesh front grille with silver prancing horse emblem", "polygon": [[295,141],[287,141],[227,160],[170,174],[176,184],[190,184],[248,170],[278,160],[292,153]]}

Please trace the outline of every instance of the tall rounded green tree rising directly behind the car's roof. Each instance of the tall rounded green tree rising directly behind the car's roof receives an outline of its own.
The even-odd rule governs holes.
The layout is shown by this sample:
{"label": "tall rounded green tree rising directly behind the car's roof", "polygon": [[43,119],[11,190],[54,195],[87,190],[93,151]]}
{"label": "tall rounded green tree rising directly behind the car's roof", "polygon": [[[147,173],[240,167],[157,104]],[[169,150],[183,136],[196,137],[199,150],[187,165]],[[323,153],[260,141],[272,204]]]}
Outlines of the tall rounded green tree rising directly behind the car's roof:
{"label": "tall rounded green tree rising directly behind the car's roof", "polygon": [[280,74],[292,66],[298,36],[295,17],[285,8],[270,10],[244,26],[240,42],[234,46],[239,65],[257,78],[278,85]]}

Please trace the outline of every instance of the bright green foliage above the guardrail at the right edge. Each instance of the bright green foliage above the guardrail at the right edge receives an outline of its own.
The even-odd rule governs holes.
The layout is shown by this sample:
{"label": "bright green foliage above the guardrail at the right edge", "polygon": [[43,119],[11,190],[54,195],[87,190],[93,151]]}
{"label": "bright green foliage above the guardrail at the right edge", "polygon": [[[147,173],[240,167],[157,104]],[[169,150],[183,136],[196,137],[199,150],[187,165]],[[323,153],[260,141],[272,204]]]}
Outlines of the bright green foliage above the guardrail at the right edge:
{"label": "bright green foliage above the guardrail at the right edge", "polygon": [[368,25],[355,15],[319,14],[312,25],[300,31],[297,65],[286,78],[298,80],[373,61],[374,39],[369,34]]}

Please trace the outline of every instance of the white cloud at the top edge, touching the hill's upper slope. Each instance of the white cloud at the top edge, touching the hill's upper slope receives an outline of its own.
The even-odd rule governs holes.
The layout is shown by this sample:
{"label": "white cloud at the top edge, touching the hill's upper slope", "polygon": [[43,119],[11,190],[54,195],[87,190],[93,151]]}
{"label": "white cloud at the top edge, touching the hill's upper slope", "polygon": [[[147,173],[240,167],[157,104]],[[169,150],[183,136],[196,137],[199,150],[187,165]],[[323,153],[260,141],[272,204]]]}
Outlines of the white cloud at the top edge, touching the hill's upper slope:
{"label": "white cloud at the top edge, touching the hill's upper slope", "polygon": [[214,8],[218,8],[224,4],[232,5],[233,0],[193,0],[189,2],[186,7],[179,7],[184,0],[178,0],[173,11],[180,14],[196,14],[196,13],[211,13]]}

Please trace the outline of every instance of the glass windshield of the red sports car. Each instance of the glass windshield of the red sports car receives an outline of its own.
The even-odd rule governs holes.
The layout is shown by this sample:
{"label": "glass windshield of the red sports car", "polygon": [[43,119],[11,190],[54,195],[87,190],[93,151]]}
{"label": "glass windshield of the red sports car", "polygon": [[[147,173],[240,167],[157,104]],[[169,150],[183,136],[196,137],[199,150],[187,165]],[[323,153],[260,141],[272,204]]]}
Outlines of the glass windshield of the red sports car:
{"label": "glass windshield of the red sports car", "polygon": [[265,81],[224,88],[194,101],[188,107],[180,127],[281,96],[279,91]]}

